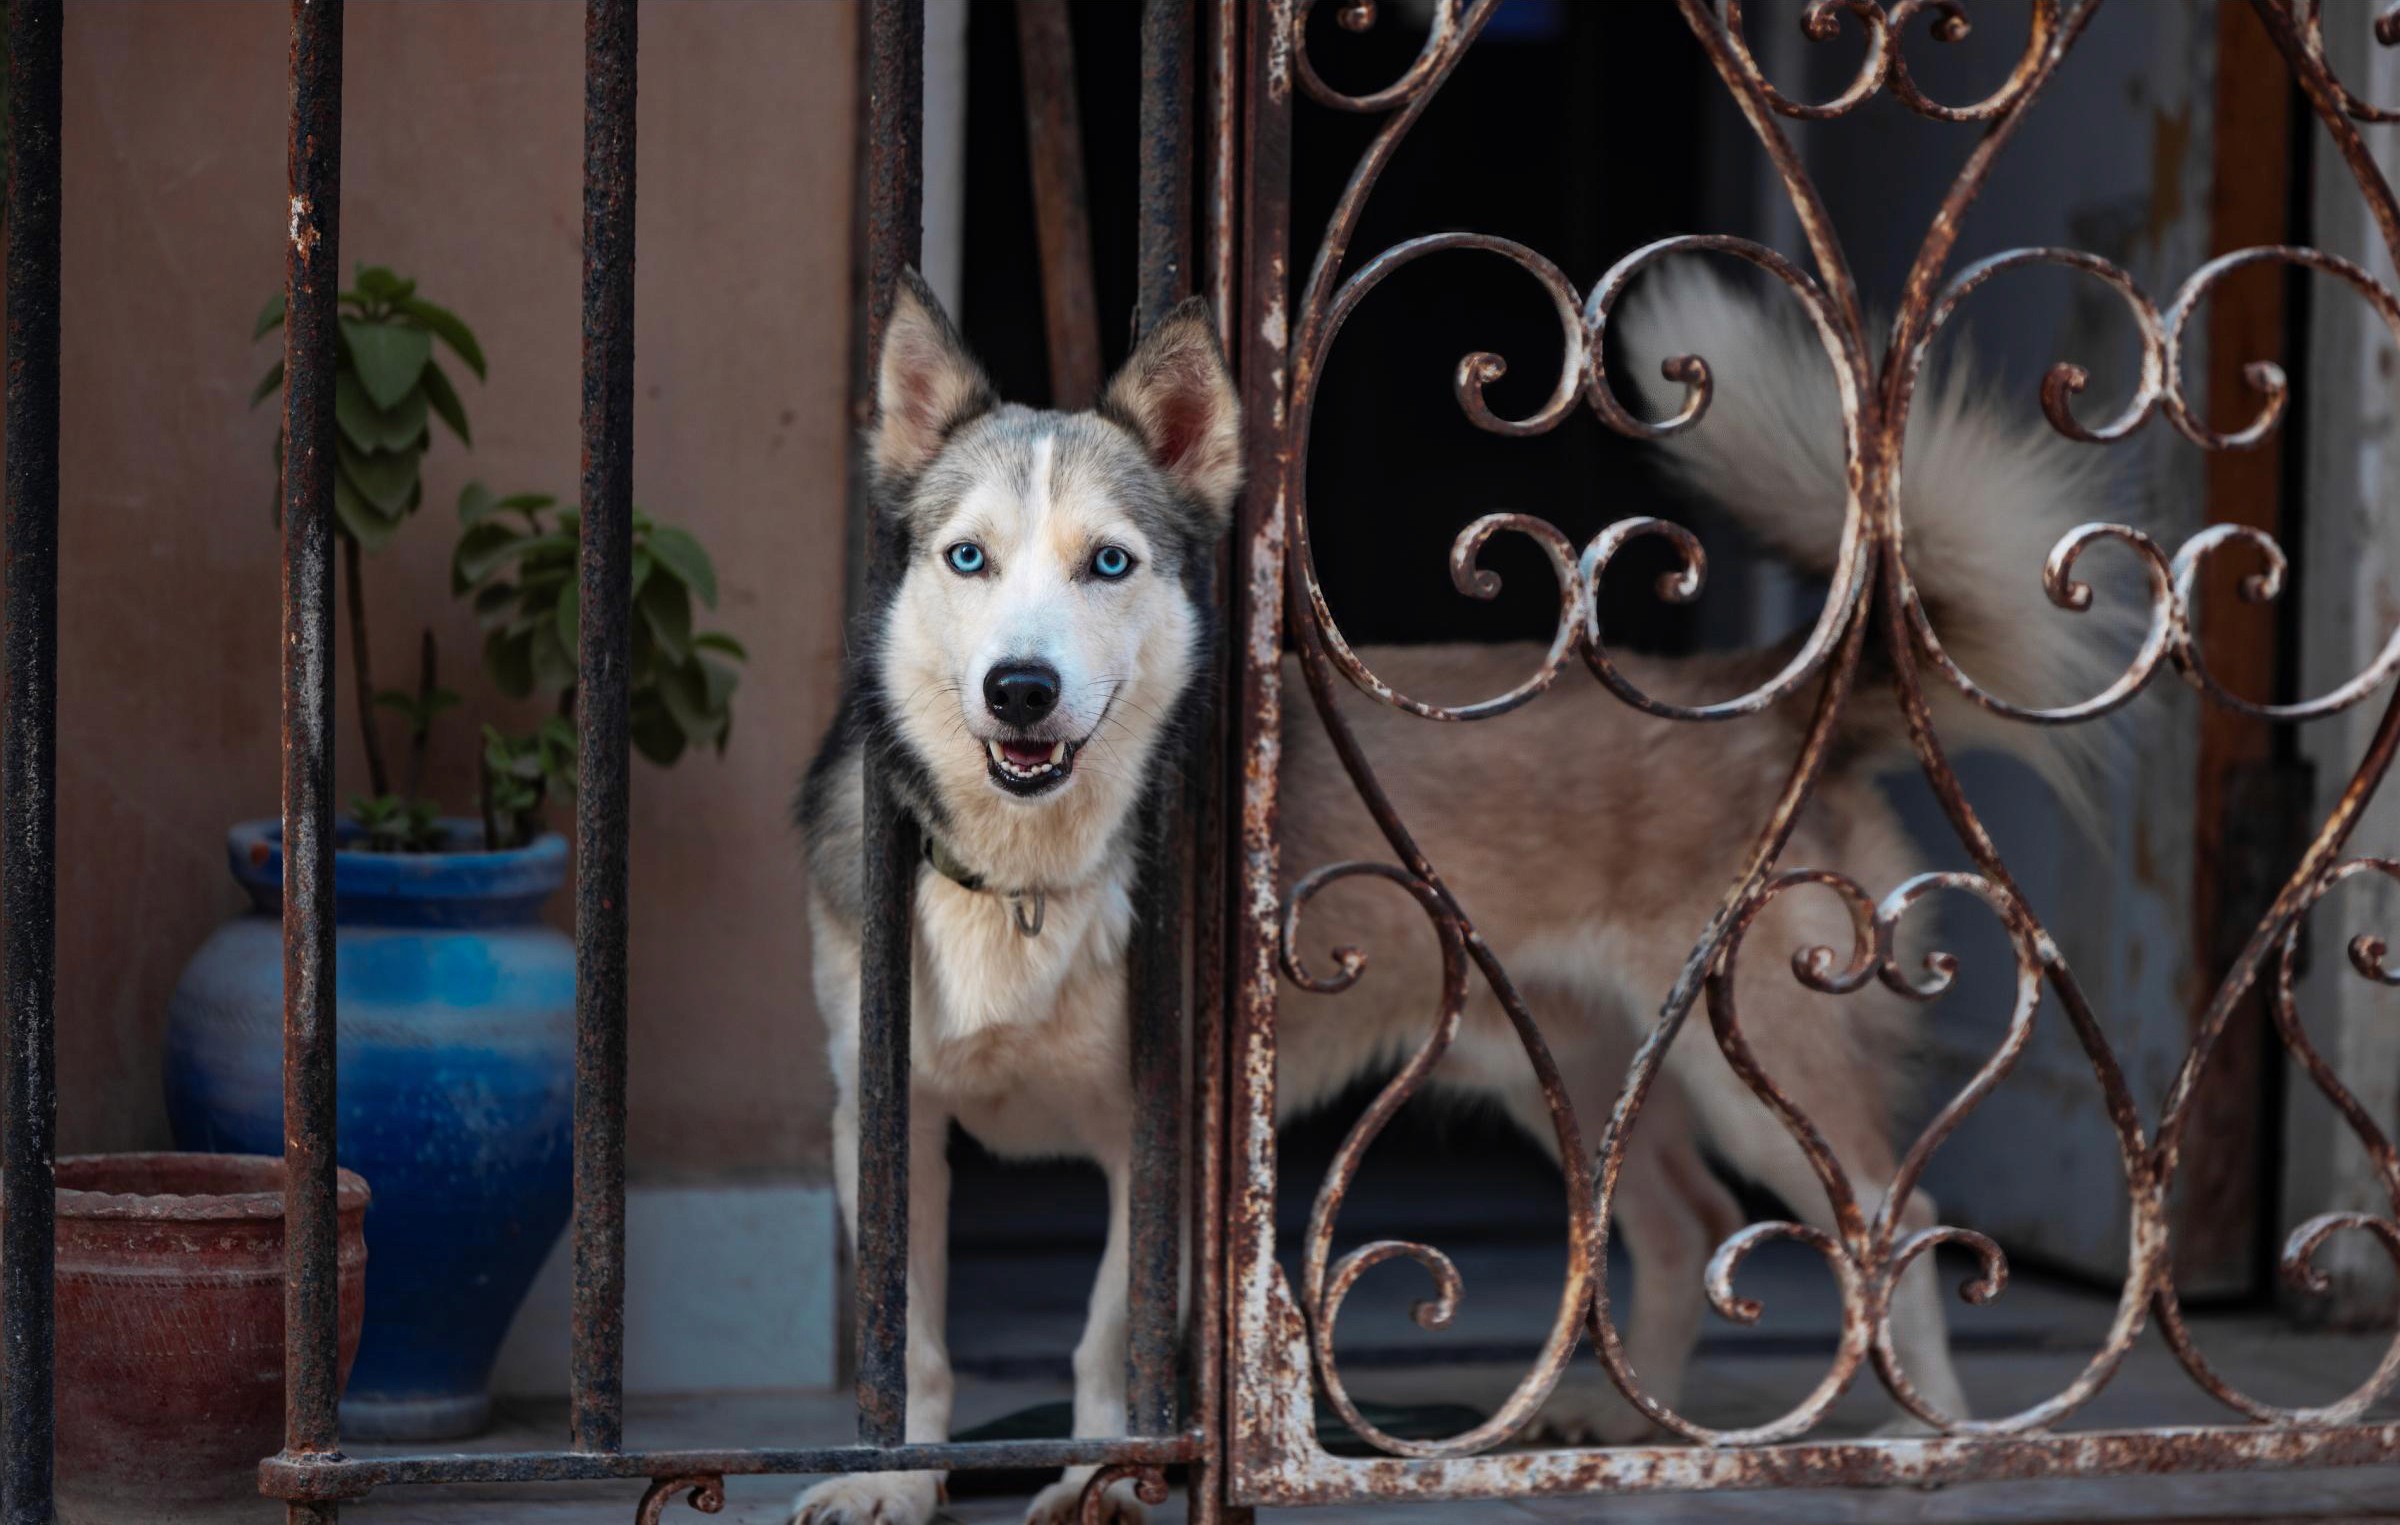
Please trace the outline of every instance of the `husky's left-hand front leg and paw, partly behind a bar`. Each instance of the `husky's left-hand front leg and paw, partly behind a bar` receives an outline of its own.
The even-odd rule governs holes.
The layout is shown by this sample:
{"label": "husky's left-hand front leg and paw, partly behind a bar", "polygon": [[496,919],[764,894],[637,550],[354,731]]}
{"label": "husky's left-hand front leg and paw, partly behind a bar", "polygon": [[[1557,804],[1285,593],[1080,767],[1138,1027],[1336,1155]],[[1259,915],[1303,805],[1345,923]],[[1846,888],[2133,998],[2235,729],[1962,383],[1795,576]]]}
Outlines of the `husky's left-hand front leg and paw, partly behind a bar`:
{"label": "husky's left-hand front leg and paw, partly behind a bar", "polygon": [[[907,1441],[950,1439],[950,1117],[910,1098],[907,1153]],[[842,1225],[859,1242],[859,1119],[850,1098],[833,1112],[833,1182]],[[835,1477],[792,1503],[792,1525],[926,1525],[941,1508],[941,1472]]]}

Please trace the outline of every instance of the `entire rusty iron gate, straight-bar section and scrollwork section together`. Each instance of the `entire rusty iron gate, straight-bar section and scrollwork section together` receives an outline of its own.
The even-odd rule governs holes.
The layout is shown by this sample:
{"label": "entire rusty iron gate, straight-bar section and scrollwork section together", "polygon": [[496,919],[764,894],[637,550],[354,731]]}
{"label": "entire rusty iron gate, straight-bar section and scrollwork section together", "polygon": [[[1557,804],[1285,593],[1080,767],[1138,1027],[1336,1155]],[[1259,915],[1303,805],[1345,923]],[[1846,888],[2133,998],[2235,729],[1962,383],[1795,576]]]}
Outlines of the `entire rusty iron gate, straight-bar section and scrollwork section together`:
{"label": "entire rusty iron gate, straight-bar section and scrollwork section together", "polygon": [[[2119,439],[2153,415],[2203,449],[2249,444],[2278,425],[2280,377],[2261,375],[2266,408],[2242,430],[2213,432],[2184,394],[2182,336],[2194,307],[2230,271],[2249,264],[2290,264],[2330,274],[2364,295],[2400,334],[2400,298],[2357,264],[2302,247],[2258,247],[2196,269],[2165,303],[2148,298],[2126,271],[2074,250],[2018,250],[1982,259],[1944,279],[1958,216],[1975,199],[1992,161],[2004,151],[2023,110],[2054,77],[2090,22],[2100,0],[2033,0],[2030,29],[2011,77],[1990,96],[1949,106],[1927,98],[1903,58],[1903,34],[1913,22],[1932,22],[1937,34],[1958,31],[1961,12],[1946,0],[1814,0],[1812,34],[1850,24],[1867,41],[1855,79],[1831,101],[1802,103],[1776,91],[1750,55],[1738,0],[1673,0],[1694,38],[1733,94],[1776,168],[1810,245],[1814,274],[1771,250],[1733,238],[1670,238],[1620,259],[1591,293],[1577,291],[1531,250],[1483,235],[1433,235],[1351,262],[1349,240],[1392,151],[1416,125],[1490,19],[1498,0],[1438,0],[1433,26],[1418,58],[1392,84],[1346,96],[1322,82],[1308,55],[1308,17],[1315,0],[1145,0],[1142,29],[1142,315],[1164,312],[1193,281],[1214,300],[1229,346],[1238,353],[1250,413],[1250,495],[1231,552],[1234,660],[1219,706],[1210,759],[1224,766],[1195,769],[1202,785],[1188,802],[1202,850],[1193,862],[1195,973],[1193,1009],[1193,1122],[1188,1172],[1178,1160],[1181,1138],[1181,1042],[1176,1013],[1183,1004],[1183,958],[1171,939],[1150,939],[1135,958],[1135,1076],[1145,1098],[1147,1131],[1135,1170],[1135,1225],[1140,1254],[1133,1258],[1133,1419],[1128,1439],[1039,1443],[907,1443],[900,1427],[905,1376],[905,1141],[907,1141],[907,869],[914,843],[905,821],[871,812],[881,850],[871,879],[881,915],[869,917],[866,999],[862,1018],[862,1134],[874,1146],[862,1179],[859,1246],[859,1415],[857,1446],[785,1451],[641,1451],[624,1446],[622,1429],[622,1321],[624,1321],[624,889],[626,889],[626,588],[629,588],[629,485],[631,485],[631,300],[634,300],[634,96],[636,5],[588,0],[586,55],[586,288],[583,288],[583,502],[588,533],[581,550],[583,648],[576,723],[581,728],[578,788],[578,1052],[576,1052],[576,1302],[574,1302],[574,1419],[569,1443],[538,1453],[346,1458],[336,1424],[336,1213],[334,1213],[334,1023],[331,1023],[331,375],[334,293],[341,207],[341,14],[338,0],[293,0],[293,118],[288,202],[288,310],[286,329],[286,432],[293,442],[283,483],[283,826],[286,826],[286,1158],[290,1162],[288,1220],[288,1439],[278,1458],[262,1467],[262,1487],[288,1503],[298,1523],[331,1525],[343,1499],[382,1484],[410,1482],[533,1482],[533,1479],[650,1479],[641,1518],[655,1520],[677,1496],[708,1511],[722,1503],[725,1475],[756,1472],[866,1472],[917,1467],[1034,1467],[1102,1465],[1102,1484],[1138,1477],[1145,1496],[1164,1496],[1164,1467],[1190,1467],[1198,1520],[1241,1515],[1258,1503],[1325,1503],[1366,1496],[1514,1496],[1610,1489],[1711,1489],[1831,1482],[1930,1482],[1968,1477],[2102,1475],[2160,1470],[2232,1470],[2347,1465],[2400,1458],[2400,1424],[2371,1422],[2369,1407],[2400,1376],[2400,1345],[2388,1350],[2366,1383],[2321,1407],[2290,1410],[2254,1400],[2208,1364],[2196,1347],[2170,1278],[2165,1194],[2177,1174],[2179,1143],[2196,1086],[2210,1061],[2227,1013],[2261,980],[2275,997],[2278,1030],[2292,1059],[2342,1110],[2359,1141],[2374,1153],[2393,1198],[2390,1215],[2342,1213],[2299,1225],[2285,1251],[2294,1280],[2311,1275],[2311,1256],[2335,1232],[2366,1232],[2400,1256],[2400,1165],[2378,1124],[2342,1090],[2309,1047],[2292,1009],[2292,961],[2302,917],[2338,884],[2359,874],[2400,877],[2388,860],[2345,860],[2342,845],[2369,797],[2400,752],[2400,701],[2357,764],[2338,809],[2323,821],[2299,867],[2282,884],[2232,975],[2215,992],[2198,1037],[2155,1126],[2143,1129],[2124,1076],[2110,1054],[2098,1013],[2083,1001],[2074,973],[2026,908],[2006,865],[1985,836],[1973,805],[1949,771],[1939,740],[1925,723],[1925,684],[1958,684],[1970,699],[2028,725],[2088,723],[2131,701],[2160,672],[2174,670],[2210,704],[2266,720],[2306,720],[2369,701],[2400,672],[2400,634],[2383,646],[2369,670],[2338,689],[2292,706],[2263,706],[2225,692],[2210,677],[2194,636],[2196,588],[2203,562],[2227,548],[2249,548],[2268,572],[2251,593],[2270,596],[2280,552],[2258,531],[2210,531],[2170,552],[2134,531],[2078,531],[2054,557],[2052,591],[2076,598],[2069,576],[2074,555],[2110,538],[2134,548],[2150,572],[2150,629],[2134,665],[2100,696],[2062,711],[2021,711],[1987,694],[1944,660],[1932,632],[1913,612],[1908,569],[1898,557],[1896,468],[1915,367],[1961,298],[1982,281],[2023,264],[2057,264],[2102,281],[2138,319],[2143,372],[2134,401],[2102,425],[2071,413],[2076,382],[2066,367],[2045,389],[2050,420],[2076,437]],[[2251,0],[2282,50],[2309,106],[2342,161],[2350,166],[2376,228],[2400,252],[2400,199],[2362,144],[2359,120],[2400,120],[2352,96],[2328,70],[2318,0]],[[1375,24],[1373,0],[1337,0],[1349,29]],[[862,101],[862,324],[857,353],[871,353],[874,331],[888,307],[890,279],[914,257],[919,238],[919,0],[869,0],[864,24],[866,94]],[[2354,17],[2342,17],[2345,22]],[[5,713],[0,713],[0,989],[7,999],[7,1054],[0,1071],[0,1340],[5,1340],[5,1470],[0,1515],[10,1525],[50,1520],[50,1155],[55,1136],[53,1093],[53,732],[55,732],[55,531],[58,531],[58,207],[60,207],[60,0],[12,0],[10,5],[10,185],[7,185],[7,567],[5,567]],[[2376,19],[2383,43],[2400,43],[2400,12]],[[1207,89],[1195,91],[1195,74]],[[1877,94],[1891,94],[1925,118],[1980,122],[1980,146],[1968,159],[1932,231],[1918,250],[1898,324],[1889,348],[1874,353],[1848,276],[1843,245],[1824,216],[1783,120],[1826,118],[1855,110]],[[1202,101],[1195,101],[1195,94]],[[1291,279],[1289,151],[1296,98],[1334,110],[1382,118],[1373,144],[1356,163],[1308,274]],[[1195,180],[1200,195],[1195,197]],[[1202,238],[1193,240],[1193,221]],[[1198,243],[1198,247],[1195,247]],[[1649,264],[1690,250],[1745,257],[1778,279],[1841,339],[1850,363],[1853,396],[1848,555],[1836,574],[1836,593],[1800,656],[1771,684],[1699,713],[1675,711],[1634,689],[1596,636],[1598,572],[1620,545],[1637,536],[1680,531],[1656,521],[1625,521],[1577,550],[1541,521],[1512,521],[1510,531],[1538,538],[1560,557],[1562,600],[1553,651],[1536,682],[1474,706],[1471,718],[1531,701],[1574,658],[1625,701],[1690,723],[1754,713],[1822,680],[1807,742],[1793,759],[1783,795],[1759,826],[1740,879],[1726,889],[1721,910],[1668,992],[1658,1025],[1642,1047],[1634,1071],[1601,1124],[1596,1148],[1577,1146],[1577,1119],[1558,1100],[1570,1179],[1570,1227],[1577,1249],[1570,1292],[1560,1306],[1548,1357],[1526,1374],[1507,1410],[1493,1424],[1435,1443],[1387,1446],[1392,1455],[1354,1460],[1322,1451],[1308,1422],[1310,1395],[1322,1383],[1339,1393],[1330,1364],[1330,1318],[1349,1280],[1366,1266],[1411,1256],[1457,1287],[1454,1268],[1438,1249],[1380,1244],[1330,1261],[1332,1210],[1310,1225],[1306,1302],[1291,1292],[1274,1263],[1274,1013],[1279,985],[1301,977],[1286,929],[1306,901],[1306,889],[1284,889],[1277,850],[1274,759],[1286,723],[1279,658],[1286,644],[1298,653],[1315,718],[1291,723],[1327,725],[1346,740],[1332,706],[1337,680],[1349,680],[1370,699],[1392,701],[1373,672],[1339,639],[1318,596],[1308,543],[1308,507],[1301,464],[1310,408],[1327,351],[1346,310],[1392,269],[1433,250],[1495,252],[1546,283],[1565,324],[1565,363],[1553,403],[1531,420],[1500,420],[1481,401],[1481,384],[1498,372],[1493,358],[1471,355],[1462,370],[1462,401],[1483,427],[1526,432],[1562,420],[1579,399],[1601,418],[1632,435],[1656,435],[1658,425],[1622,413],[1608,391],[1603,329],[1610,303]],[[1697,370],[1687,370],[1697,391]],[[864,399],[864,389],[857,391]],[[1474,552],[1490,526],[1462,533],[1454,557],[1462,576],[1474,572]],[[888,576],[888,567],[876,576]],[[1697,569],[1694,569],[1697,572]],[[1826,874],[1807,865],[1783,867],[1781,848],[1795,812],[1824,766],[1824,742],[1853,696],[1860,651],[1879,627],[1896,658],[1896,701],[1913,720],[1927,778],[1978,872],[1949,877],[1978,893],[2006,925],[2018,951],[2018,977],[2028,994],[2011,1023],[2011,1040],[1975,1076],[1958,1102],[1944,1110],[1915,1141],[1903,1165],[1913,1179],[1925,1158],[1958,1124],[1966,1110],[2002,1081],[2033,1023],[2038,989],[2047,985],[2066,1021],[2083,1037],[2095,1083],[2117,1119],[2126,1186],[2134,1203],[2134,1258],[2126,1266],[2119,1316],[2102,1350],[2059,1395],[2018,1415],[1956,1422],[1927,1412],[1896,1376],[1889,1340],[1882,1338],[1884,1299],[1894,1278],[1937,1242],[1961,1242],[1982,1254],[1987,1285],[1997,1287],[2002,1261],[1990,1242],[1966,1230],[1930,1230],[1896,1237],[1889,1213],[1872,1220],[1858,1206],[1838,1165],[1805,1117],[1781,1107],[1798,1143],[1814,1160],[1836,1203],[1838,1234],[1814,1239],[1841,1268],[1846,1290],[1843,1338],[1834,1369],[1817,1393],[1783,1419],[1750,1434],[1714,1434],[1642,1398],[1615,1345],[1606,1297],[1606,1237],[1618,1170],[1630,1129],[1639,1126],[1642,1100],[1666,1045],[1706,994],[1721,1042],[1738,1040],[1738,1021],[1718,1004],[1716,987],[1730,975],[1742,927],[1771,896]],[[1927,675],[1930,670],[1930,675]],[[1512,1004],[1526,1054],[1541,1066],[1538,1028],[1510,994],[1507,973],[1474,937],[1474,925],[1442,886],[1438,865],[1426,862],[1404,821],[1375,783],[1370,759],[1346,749],[1351,781],[1378,817],[1399,869],[1397,877],[1430,913],[1454,980],[1450,999],[1428,1035],[1426,1054],[1438,1054],[1445,1030],[1459,1018],[1466,965],[1476,965],[1502,1001]],[[878,800],[874,783],[869,800]],[[1176,805],[1162,800],[1159,805]],[[1171,819],[1154,809],[1154,819]],[[1147,841],[1145,927],[1174,927],[1181,915],[1183,874],[1176,872],[1176,831],[1159,829]],[[1310,881],[1354,869],[1349,865],[1291,865]],[[1889,968],[1889,934],[1898,917],[1930,889],[1836,884],[1853,910],[1858,944],[1843,968],[1829,956],[1814,973],[1829,985]],[[1874,889],[1884,889],[1882,903]],[[2362,934],[2350,944],[2357,973],[2400,985],[2388,946]],[[1382,1095],[1342,1172],[1370,1141],[1380,1117],[1404,1102],[1421,1078],[1411,1066]],[[1752,1088],[1778,1105],[1774,1086],[1752,1071]],[[1591,1119],[1584,1119],[1591,1122]],[[1176,1398],[1176,1266],[1178,1179],[1190,1182],[1190,1405]],[[1346,1174],[1337,1174],[1327,1203],[1339,1201]],[[1898,1196],[1898,1194],[1894,1194]],[[1766,1225],[1728,1242],[1721,1256],[1738,1258],[1762,1234],[1807,1237],[1798,1225]],[[2155,1318],[2174,1357],[2208,1393],[2242,1422],[2208,1429],[2150,1429],[2117,1434],[2050,1434],[2047,1427],[2100,1391],[2126,1350]],[[1579,1333],[1589,1333],[1598,1359],[1651,1417],[1697,1441],[1692,1446],[1634,1446],[1606,1451],[1541,1451],[1495,1455],[1514,1419],[1538,1405],[1572,1359]],[[1862,1369],[1874,1366],[1894,1395],[1939,1431],[1910,1441],[1807,1441],[1831,1398]]]}

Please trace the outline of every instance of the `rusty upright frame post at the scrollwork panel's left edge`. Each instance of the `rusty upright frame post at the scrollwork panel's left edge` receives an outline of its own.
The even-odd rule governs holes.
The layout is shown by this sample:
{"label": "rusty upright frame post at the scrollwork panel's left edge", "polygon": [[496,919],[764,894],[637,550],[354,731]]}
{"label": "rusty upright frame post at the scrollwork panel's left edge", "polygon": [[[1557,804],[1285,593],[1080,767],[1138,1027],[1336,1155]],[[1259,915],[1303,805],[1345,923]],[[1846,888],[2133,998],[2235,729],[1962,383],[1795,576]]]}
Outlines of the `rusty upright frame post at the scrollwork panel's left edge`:
{"label": "rusty upright frame post at the scrollwork panel's left edge", "polygon": [[[1234,824],[1234,961],[1229,970],[1226,1057],[1226,1330],[1224,1489],[1241,1496],[1253,1453],[1274,1446],[1274,1400],[1243,1388],[1243,1374],[1272,1381],[1279,1328],[1270,1328],[1274,1275],[1274,997],[1279,970],[1277,747],[1284,723],[1284,524],[1291,476],[1284,353],[1291,300],[1291,29],[1294,0],[1267,0],[1248,17],[1243,79],[1243,276],[1241,408],[1248,432],[1248,488],[1234,531],[1234,675],[1229,728],[1236,756],[1229,778],[1241,790]],[[1248,1511],[1226,1508],[1226,1520]]]}

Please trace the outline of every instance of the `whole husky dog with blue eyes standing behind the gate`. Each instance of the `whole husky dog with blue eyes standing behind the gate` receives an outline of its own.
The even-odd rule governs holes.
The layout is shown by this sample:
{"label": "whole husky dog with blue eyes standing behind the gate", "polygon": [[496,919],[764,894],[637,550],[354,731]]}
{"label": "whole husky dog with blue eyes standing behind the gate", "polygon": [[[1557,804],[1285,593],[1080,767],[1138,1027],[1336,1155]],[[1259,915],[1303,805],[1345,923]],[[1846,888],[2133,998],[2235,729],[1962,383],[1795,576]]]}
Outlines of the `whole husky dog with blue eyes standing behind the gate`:
{"label": "whole husky dog with blue eyes standing behind the gate", "polygon": [[[1658,295],[1620,319],[1632,351],[1699,353],[1718,379],[1711,415],[1670,447],[1670,464],[1769,548],[1824,572],[1846,485],[1822,348],[1711,279],[1668,271],[1654,283]],[[1654,408],[1673,406],[1663,387],[1654,391]],[[912,987],[907,1439],[943,1441],[950,1422],[950,1122],[1001,1155],[1082,1155],[1106,1172],[1109,1239],[1075,1347],[1075,1434],[1123,1434],[1133,814],[1150,773],[1169,766],[1169,718],[1210,658],[1200,588],[1241,485],[1238,401],[1205,307],[1188,303],[1135,348],[1094,411],[1001,403],[910,276],[886,329],[876,403],[866,449],[878,533],[898,538],[902,572],[866,615],[840,716],[799,802],[816,1001],[840,1090],[835,1179],[854,1232],[859,759],[876,740],[926,838]],[[1903,488],[1910,562],[1946,651],[2016,699],[2081,682],[2088,646],[2059,629],[2040,567],[2064,528],[2102,516],[2095,468],[2040,420],[2002,423],[1958,377],[1922,387],[1918,413]],[[1502,692],[1541,660],[1524,646],[1361,656],[1399,689],[1433,699]],[[1790,646],[1620,665],[1651,694],[1702,701],[1766,682],[1788,656]],[[1906,754],[1906,730],[1882,692],[1860,687],[1783,860],[1884,893],[1915,872],[1872,783]],[[1289,670],[1286,692],[1298,692]],[[1783,785],[1812,692],[1726,725],[1651,718],[1572,680],[1476,725],[1428,725],[1349,696],[1385,788],[1517,977],[1586,1134],[1598,1131],[1661,994],[1733,881],[1759,802]],[[2014,747],[2069,776],[2069,759],[2040,749],[2050,728],[2002,728],[1956,696],[1934,704],[1946,737]],[[1289,869],[1390,857],[1306,716],[1286,728],[1279,769]],[[1423,913],[1390,886],[1327,889],[1301,932],[1310,946],[1366,949],[1370,963],[1346,994],[1284,1001],[1277,1095],[1286,1117],[1421,1045],[1440,989]],[[1913,1009],[1874,982],[1826,997],[1793,980],[1793,949],[1850,946],[1848,913],[1824,891],[1776,896],[1747,941],[1757,953],[1738,970],[1742,1030],[1872,1213],[1894,1174],[1889,1131]],[[1639,1287],[1627,1359],[1668,1405],[1699,1333],[1702,1270],[1742,1222],[1711,1158],[1834,1227],[1783,1124],[1735,1078],[1706,1025],[1687,1028],[1630,1134],[1615,1206]],[[1435,1086],[1498,1102],[1555,1148],[1534,1071],[1488,992],[1466,1009]],[[1908,1230],[1930,1227],[1934,1206],[1915,1194],[1901,1218]],[[1903,1278],[1891,1328],[1918,1393],[1966,1415],[1930,1258]],[[1591,1366],[1570,1374],[1536,1431],[1642,1436],[1644,1417]],[[1027,1518],[1073,1518],[1090,1472],[1068,1472]],[[802,1494],[794,1520],[919,1525],[938,1496],[936,1472],[842,1477]],[[1106,1511],[1142,1518],[1123,1487]]]}

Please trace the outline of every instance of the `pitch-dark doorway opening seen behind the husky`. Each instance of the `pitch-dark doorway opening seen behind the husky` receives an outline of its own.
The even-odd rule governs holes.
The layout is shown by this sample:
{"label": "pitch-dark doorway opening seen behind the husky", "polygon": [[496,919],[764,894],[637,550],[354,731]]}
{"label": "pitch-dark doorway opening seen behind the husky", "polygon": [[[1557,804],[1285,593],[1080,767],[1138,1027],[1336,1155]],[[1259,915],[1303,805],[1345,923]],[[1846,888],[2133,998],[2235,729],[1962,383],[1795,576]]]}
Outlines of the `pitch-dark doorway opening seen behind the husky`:
{"label": "pitch-dark doorway opening seen behind the husky", "polygon": [[[1385,5],[1378,26],[1356,36],[1337,29],[1334,10],[1318,7],[1315,24],[1327,36],[1313,58],[1337,89],[1399,77],[1423,43],[1423,7]],[[1078,0],[1070,17],[1102,360],[1116,365],[1130,343],[1133,312],[1140,7]],[[1668,7],[1507,0],[1394,156],[1351,240],[1349,267],[1409,235],[1474,228],[1541,250],[1589,288],[1627,250],[1704,226],[1709,125],[1687,110],[1706,98],[1704,70]],[[1380,118],[1301,103],[1296,262],[1315,250],[1378,125]],[[1006,396],[1044,401],[1042,274],[1008,0],[970,7],[965,171],[960,324]],[[1656,509],[1658,485],[1637,447],[1594,418],[1577,413],[1541,439],[1502,439],[1459,411],[1450,384],[1459,355],[1507,355],[1512,370],[1488,399],[1500,413],[1526,413],[1548,396],[1560,343],[1548,298],[1488,255],[1445,255],[1402,271],[1351,319],[1327,367],[1310,454],[1313,524],[1327,548],[1320,572],[1351,639],[1538,639],[1558,610],[1541,552],[1524,540],[1495,543],[1486,564],[1502,574],[1505,591],[1476,603],[1447,574],[1459,526],[1493,509],[1524,509],[1582,540],[1630,512],[1627,504]],[[1651,584],[1666,569],[1663,555],[1658,548],[1658,560],[1622,557],[1610,584],[1618,576]],[[1685,651],[1699,639],[1690,608],[1646,593],[1610,605],[1625,612],[1610,624],[1613,644]],[[1361,1088],[1286,1134],[1286,1237],[1306,1222],[1308,1196],[1368,1095]],[[977,1350],[967,1328],[1001,1321],[955,1318],[960,1366],[1063,1369],[1104,1232],[1099,1174],[1080,1162],[1006,1165],[965,1136],[953,1138],[950,1153],[953,1309],[991,1306],[1015,1328]],[[1558,1189],[1548,1158],[1502,1119],[1411,1107],[1378,1143],[1375,1165],[1344,1213],[1344,1234],[1555,1242]],[[1039,1304],[1032,1323],[1030,1304]],[[1042,1321],[1039,1311],[1054,1318]]]}

